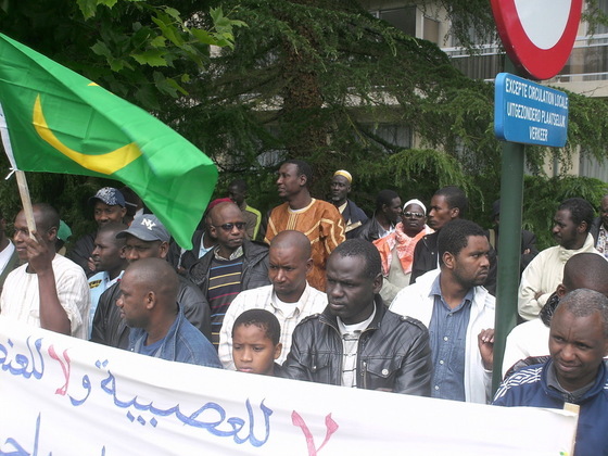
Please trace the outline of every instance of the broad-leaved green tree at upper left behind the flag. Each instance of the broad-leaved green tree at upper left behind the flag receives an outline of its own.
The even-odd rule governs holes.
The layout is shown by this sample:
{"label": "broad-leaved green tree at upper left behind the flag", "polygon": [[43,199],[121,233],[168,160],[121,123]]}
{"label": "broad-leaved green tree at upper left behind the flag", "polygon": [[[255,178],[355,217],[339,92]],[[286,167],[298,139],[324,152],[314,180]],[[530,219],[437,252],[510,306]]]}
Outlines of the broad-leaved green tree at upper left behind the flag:
{"label": "broad-leaved green tree at upper left behind the flag", "polygon": [[[36,0],[2,2],[0,29],[56,62],[149,111],[187,96],[183,84],[210,63],[210,47],[233,47],[242,26],[220,8],[200,12],[199,2],[154,0]],[[8,169],[2,154],[0,161]],[[62,208],[76,232],[90,229],[83,214],[88,197],[103,185],[81,176],[28,175],[34,200]],[[0,186],[7,219],[21,206],[15,186]]]}

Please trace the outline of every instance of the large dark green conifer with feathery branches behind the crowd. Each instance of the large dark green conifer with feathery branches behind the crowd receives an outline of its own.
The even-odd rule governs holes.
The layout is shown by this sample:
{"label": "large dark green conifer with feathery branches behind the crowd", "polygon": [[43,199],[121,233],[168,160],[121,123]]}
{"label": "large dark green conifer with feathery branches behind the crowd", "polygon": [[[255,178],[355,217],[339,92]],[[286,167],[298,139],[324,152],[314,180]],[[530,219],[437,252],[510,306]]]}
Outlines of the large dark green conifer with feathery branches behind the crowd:
{"label": "large dark green conifer with feathery branches behind the crowd", "polygon": [[[482,34],[494,30],[487,2],[443,3],[461,41],[470,26]],[[177,111],[167,106],[163,116],[195,138],[227,178],[254,176],[250,183],[263,207],[277,202],[274,168],[258,161],[268,155],[275,163],[309,161],[318,197],[327,191],[329,174],[347,167],[357,178],[357,200],[368,210],[381,188],[429,199],[432,186],[455,175],[478,212],[492,202],[501,147],[492,128],[491,84],[465,77],[435,45],[404,35],[358,2],[223,4],[248,27],[237,31],[233,49],[214,56],[210,71],[191,81],[195,102]],[[569,142],[557,153],[567,162],[583,147],[605,156],[606,104],[570,97]],[[404,150],[381,137],[375,130],[380,122],[409,126],[425,149]],[[530,166],[537,170],[545,155],[556,153],[530,151]]]}

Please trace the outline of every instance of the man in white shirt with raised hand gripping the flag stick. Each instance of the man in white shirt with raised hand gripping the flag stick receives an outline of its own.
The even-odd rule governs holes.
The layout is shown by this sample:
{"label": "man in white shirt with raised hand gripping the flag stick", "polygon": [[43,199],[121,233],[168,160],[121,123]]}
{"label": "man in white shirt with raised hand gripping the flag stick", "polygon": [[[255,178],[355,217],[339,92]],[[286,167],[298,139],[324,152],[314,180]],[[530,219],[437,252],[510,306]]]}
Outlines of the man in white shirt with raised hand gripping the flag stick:
{"label": "man in white shirt with raised hand gripping the flag stick", "polygon": [[84,270],[55,253],[59,214],[35,204],[35,240],[24,212],[15,218],[13,240],[23,266],[7,277],[0,307],[3,316],[51,331],[87,339],[89,287]]}

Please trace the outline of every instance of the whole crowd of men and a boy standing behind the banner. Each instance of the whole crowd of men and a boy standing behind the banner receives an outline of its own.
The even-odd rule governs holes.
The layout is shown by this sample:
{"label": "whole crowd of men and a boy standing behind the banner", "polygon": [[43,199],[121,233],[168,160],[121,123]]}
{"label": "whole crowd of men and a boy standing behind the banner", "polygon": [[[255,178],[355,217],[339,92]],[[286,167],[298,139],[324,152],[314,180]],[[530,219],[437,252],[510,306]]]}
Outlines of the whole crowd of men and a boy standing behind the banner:
{"label": "whole crowd of men and a boy standing behind the banner", "polygon": [[[135,353],[326,384],[503,406],[579,404],[577,454],[608,447],[608,195],[554,216],[556,246],[522,230],[522,322],[507,339],[492,398],[494,228],[467,220],[468,199],[439,189],[429,207],[382,190],[368,217],[334,173],[329,201],[312,169],[283,163],[284,203],[262,213],[237,179],[180,249],[128,189],[91,197],[98,229],[56,253],[48,204],[0,226],[1,315]],[[124,193],[123,193],[124,192]],[[127,198],[125,198],[125,194]],[[129,200],[129,201],[128,201]],[[72,258],[72,259],[69,259]]]}

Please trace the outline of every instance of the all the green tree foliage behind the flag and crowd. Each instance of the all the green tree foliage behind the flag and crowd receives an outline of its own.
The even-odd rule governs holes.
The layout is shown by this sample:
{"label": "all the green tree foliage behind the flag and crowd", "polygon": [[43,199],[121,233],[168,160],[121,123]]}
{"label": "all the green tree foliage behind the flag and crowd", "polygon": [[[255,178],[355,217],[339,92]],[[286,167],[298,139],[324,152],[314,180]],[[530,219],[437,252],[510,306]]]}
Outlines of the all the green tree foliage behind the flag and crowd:
{"label": "all the green tree foliage behind the flag and crowd", "polygon": [[[440,3],[463,45],[472,46],[471,26],[479,35],[494,33],[487,1]],[[587,1],[587,14],[601,23],[594,4],[597,0]],[[214,159],[221,172],[217,197],[226,194],[231,178],[242,177],[249,201],[264,212],[279,202],[278,163],[299,157],[314,167],[317,198],[327,197],[339,168],[354,175],[351,195],[368,212],[383,188],[428,203],[438,188],[459,185],[470,198],[469,217],[490,224],[502,150],[492,125],[493,85],[465,77],[435,45],[404,35],[358,2],[175,0],[168,7],[155,0],[5,0],[2,5],[3,33],[153,110]],[[210,45],[224,48],[212,54]],[[539,211],[550,213],[546,204],[554,207],[567,192],[559,179],[542,177],[543,163],[555,155],[568,165],[579,147],[605,157],[607,122],[604,101],[570,93],[567,148],[528,148],[528,165],[540,183],[529,190],[528,179],[525,204],[529,192],[546,194]],[[380,135],[377,127],[387,123],[409,126],[415,149]],[[81,195],[103,185],[76,176],[28,178],[35,198],[68,207],[66,217],[74,221],[83,219]],[[563,186],[597,195],[584,179],[575,182],[566,179]],[[9,210],[20,205],[14,191],[12,183],[0,187]],[[525,214],[525,224],[546,231],[540,214]],[[543,236],[542,242],[549,242]]]}

